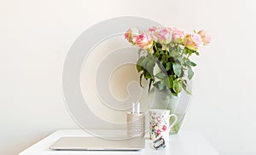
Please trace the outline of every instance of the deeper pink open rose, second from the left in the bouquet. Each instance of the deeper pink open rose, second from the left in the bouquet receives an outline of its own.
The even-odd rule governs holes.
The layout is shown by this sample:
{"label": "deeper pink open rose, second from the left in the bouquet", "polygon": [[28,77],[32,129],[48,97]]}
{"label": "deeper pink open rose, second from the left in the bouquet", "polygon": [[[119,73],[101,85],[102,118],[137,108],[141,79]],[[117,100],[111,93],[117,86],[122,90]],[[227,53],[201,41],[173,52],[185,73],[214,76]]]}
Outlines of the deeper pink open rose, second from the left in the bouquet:
{"label": "deeper pink open rose, second from the left in the bouquet", "polygon": [[146,33],[142,33],[137,37],[132,38],[132,42],[134,42],[141,49],[150,49],[153,45],[153,40]]}

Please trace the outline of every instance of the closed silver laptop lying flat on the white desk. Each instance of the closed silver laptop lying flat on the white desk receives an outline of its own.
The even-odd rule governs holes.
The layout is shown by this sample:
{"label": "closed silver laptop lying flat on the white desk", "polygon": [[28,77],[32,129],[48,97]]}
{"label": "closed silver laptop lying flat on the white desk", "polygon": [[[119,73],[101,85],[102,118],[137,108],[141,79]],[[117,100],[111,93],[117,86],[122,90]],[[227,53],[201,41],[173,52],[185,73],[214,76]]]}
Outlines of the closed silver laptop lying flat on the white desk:
{"label": "closed silver laptop lying flat on the white desk", "polygon": [[145,147],[143,137],[126,140],[106,140],[97,137],[61,137],[49,148],[52,150],[116,150],[136,151]]}

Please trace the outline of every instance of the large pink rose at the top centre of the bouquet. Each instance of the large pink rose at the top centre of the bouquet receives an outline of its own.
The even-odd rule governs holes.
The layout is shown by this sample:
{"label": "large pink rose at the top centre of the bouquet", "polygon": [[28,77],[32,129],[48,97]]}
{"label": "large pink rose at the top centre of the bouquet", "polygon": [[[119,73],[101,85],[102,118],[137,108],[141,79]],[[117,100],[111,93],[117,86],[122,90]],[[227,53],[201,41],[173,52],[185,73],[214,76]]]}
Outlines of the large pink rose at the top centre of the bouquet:
{"label": "large pink rose at the top centre of the bouquet", "polygon": [[172,32],[169,28],[161,27],[154,31],[154,36],[162,44],[168,44],[172,42]]}

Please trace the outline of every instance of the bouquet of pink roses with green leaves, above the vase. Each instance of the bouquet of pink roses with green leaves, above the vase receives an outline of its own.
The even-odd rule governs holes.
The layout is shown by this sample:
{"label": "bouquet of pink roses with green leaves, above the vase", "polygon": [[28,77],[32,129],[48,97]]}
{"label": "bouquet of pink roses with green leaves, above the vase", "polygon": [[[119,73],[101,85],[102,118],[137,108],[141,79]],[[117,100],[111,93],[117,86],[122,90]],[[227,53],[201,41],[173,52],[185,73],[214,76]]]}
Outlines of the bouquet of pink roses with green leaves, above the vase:
{"label": "bouquet of pink roses with green leaves, above the vase", "polygon": [[172,95],[182,89],[190,94],[188,80],[193,78],[192,67],[196,64],[189,57],[199,55],[198,49],[211,42],[204,30],[185,33],[174,27],[151,27],[145,32],[131,28],[125,32],[125,39],[139,48],[137,72],[141,72],[141,86],[145,78],[149,80],[148,92],[153,85],[159,90],[169,89]]}

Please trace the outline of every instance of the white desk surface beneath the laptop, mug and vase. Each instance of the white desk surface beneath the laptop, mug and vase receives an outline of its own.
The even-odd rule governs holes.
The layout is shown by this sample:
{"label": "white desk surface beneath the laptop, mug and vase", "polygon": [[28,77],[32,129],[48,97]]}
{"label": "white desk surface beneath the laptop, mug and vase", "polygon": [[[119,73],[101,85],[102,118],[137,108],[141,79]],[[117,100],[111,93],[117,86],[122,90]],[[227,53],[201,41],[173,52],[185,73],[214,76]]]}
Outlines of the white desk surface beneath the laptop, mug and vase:
{"label": "white desk surface beneath the laptop, mug and vase", "polygon": [[[105,130],[106,131],[106,130]],[[115,133],[118,133],[115,131]],[[142,151],[52,151],[49,146],[62,136],[91,136],[82,129],[65,129],[55,131],[44,140],[30,146],[19,155],[81,155],[81,154],[124,154],[124,155],[219,155],[218,152],[200,134],[191,131],[181,131],[178,135],[170,135],[170,146],[154,150],[152,141],[146,138],[145,149]]]}

